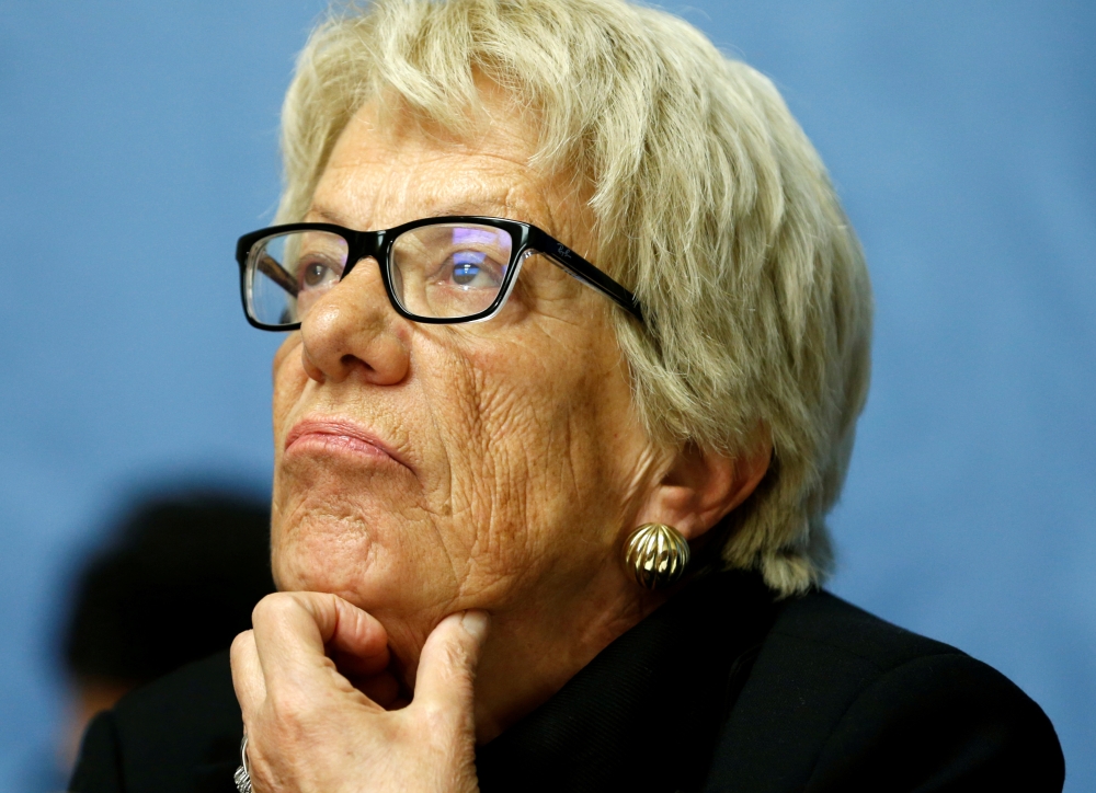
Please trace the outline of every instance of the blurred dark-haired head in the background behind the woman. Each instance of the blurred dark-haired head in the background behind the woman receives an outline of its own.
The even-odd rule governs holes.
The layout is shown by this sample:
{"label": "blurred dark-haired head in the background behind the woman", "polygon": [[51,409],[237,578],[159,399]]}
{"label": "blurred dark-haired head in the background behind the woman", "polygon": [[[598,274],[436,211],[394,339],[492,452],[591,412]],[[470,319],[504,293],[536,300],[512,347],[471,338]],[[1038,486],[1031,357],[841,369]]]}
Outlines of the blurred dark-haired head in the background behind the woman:
{"label": "blurred dark-haired head in the background behind the woman", "polygon": [[137,499],[78,574],[62,634],[73,701],[59,770],[95,713],[228,647],[271,591],[269,502],[208,489]]}

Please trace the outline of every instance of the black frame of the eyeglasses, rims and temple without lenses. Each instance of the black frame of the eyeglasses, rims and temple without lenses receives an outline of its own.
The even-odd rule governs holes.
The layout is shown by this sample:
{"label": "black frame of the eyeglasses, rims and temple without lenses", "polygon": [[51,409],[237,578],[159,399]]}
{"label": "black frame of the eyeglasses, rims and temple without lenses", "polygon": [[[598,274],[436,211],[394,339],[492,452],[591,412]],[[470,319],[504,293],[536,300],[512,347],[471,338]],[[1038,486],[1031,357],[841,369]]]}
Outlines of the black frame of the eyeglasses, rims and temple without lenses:
{"label": "black frame of the eyeglasses, rims and temple without lenses", "polygon": [[[392,245],[401,234],[408,231],[438,223],[473,223],[477,226],[488,226],[507,232],[511,240],[514,242],[510,253],[510,262],[506,265],[506,274],[503,276],[503,281],[499,287],[498,297],[495,297],[488,308],[478,313],[458,318],[422,317],[408,311],[400,304],[400,300],[396,297],[391,273]],[[435,218],[421,218],[419,220],[402,223],[401,226],[396,226],[391,229],[381,229],[379,231],[355,231],[354,229],[349,229],[344,226],[338,226],[335,223],[300,222],[270,226],[265,229],[259,229],[243,234],[236,243],[236,261],[240,265],[240,299],[243,303],[243,314],[248,322],[259,330],[295,331],[300,327],[299,320],[297,322],[277,325],[260,322],[251,315],[251,311],[248,307],[248,263],[251,256],[251,250],[256,243],[270,237],[277,237],[279,234],[288,234],[298,231],[324,231],[336,234],[346,241],[346,265],[343,268],[342,274],[339,276],[340,283],[343,278],[351,274],[354,267],[357,266],[358,262],[365,258],[375,260],[380,268],[380,278],[385,285],[385,292],[388,296],[388,302],[400,317],[403,317],[412,322],[421,322],[423,324],[432,325],[453,325],[490,320],[502,310],[502,307],[510,298],[510,292],[513,291],[514,285],[517,283],[517,275],[522,269],[522,263],[528,256],[539,253],[546,256],[552,264],[560,267],[568,275],[605,295],[617,306],[639,320],[641,324],[644,324],[643,310],[635,295],[587,262],[585,258],[580,256],[578,253],[572,251],[570,248],[564,245],[562,242],[557,240],[555,237],[549,234],[547,231],[537,228],[533,223],[526,223],[521,220],[510,220],[509,218],[492,218],[477,215],[450,215]],[[263,272],[265,273],[265,271]],[[283,268],[282,272],[285,273],[286,271]],[[288,273],[286,274],[288,275]],[[283,289],[286,289],[286,291],[296,297],[296,291],[290,290],[287,284],[278,281],[278,279],[271,273],[266,273],[266,275],[278,283],[278,286]],[[293,289],[295,290],[297,288],[296,280],[294,280]]]}

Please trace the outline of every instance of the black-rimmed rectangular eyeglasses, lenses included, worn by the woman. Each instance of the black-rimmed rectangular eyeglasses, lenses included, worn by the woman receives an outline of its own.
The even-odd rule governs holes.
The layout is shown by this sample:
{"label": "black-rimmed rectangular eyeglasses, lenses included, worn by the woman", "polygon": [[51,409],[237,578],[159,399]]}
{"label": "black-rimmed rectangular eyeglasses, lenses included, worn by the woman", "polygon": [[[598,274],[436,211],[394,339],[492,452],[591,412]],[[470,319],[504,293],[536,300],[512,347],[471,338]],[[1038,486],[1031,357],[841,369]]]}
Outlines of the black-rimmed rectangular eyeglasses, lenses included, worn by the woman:
{"label": "black-rimmed rectangular eyeglasses, lenses included, worn by the woman", "polygon": [[380,265],[392,308],[432,324],[494,317],[534,253],[606,295],[640,322],[636,297],[536,226],[483,217],[414,220],[384,231],[288,223],[240,238],[240,294],[248,321],[266,331],[300,327],[309,308],[363,258]]}

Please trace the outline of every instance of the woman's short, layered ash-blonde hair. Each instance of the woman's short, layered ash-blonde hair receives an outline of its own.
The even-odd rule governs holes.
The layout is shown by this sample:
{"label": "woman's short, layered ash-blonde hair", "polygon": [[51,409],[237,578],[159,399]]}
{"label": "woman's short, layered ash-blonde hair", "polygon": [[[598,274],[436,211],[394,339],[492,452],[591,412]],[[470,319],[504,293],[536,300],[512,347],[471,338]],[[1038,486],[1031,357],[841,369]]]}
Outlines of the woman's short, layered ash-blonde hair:
{"label": "woman's short, layered ash-blonde hair", "polygon": [[757,491],[720,527],[722,563],[792,594],[831,566],[836,501],[867,394],[871,294],[825,168],[779,93],[697,30],[623,0],[377,0],[334,11],[283,108],[283,221],[307,211],[340,133],[391,95],[458,130],[477,77],[535,117],[537,166],[591,180],[593,261],[618,312],[647,430],[742,453]]}

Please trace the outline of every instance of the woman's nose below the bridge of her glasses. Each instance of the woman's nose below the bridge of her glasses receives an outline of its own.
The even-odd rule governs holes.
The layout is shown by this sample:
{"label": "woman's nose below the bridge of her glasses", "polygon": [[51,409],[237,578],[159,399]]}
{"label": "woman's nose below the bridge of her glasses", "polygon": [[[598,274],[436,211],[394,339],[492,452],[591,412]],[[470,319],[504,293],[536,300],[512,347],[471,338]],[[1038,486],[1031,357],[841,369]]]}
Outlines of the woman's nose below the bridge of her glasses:
{"label": "woman's nose below the bridge of her glasses", "polygon": [[301,363],[317,382],[355,373],[377,386],[407,377],[410,349],[399,333],[376,260],[366,258],[313,303],[300,323]]}

